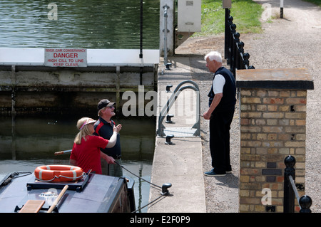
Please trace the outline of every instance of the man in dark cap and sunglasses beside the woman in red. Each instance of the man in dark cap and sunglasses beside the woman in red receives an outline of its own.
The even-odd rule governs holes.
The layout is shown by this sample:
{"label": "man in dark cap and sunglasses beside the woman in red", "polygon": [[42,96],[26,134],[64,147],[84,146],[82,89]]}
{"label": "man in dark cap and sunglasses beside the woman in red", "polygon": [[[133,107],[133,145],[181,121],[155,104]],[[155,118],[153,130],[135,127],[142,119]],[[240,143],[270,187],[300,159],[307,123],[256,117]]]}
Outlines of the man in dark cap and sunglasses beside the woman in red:
{"label": "man in dark cap and sunglasses beside the woman in red", "polygon": [[[115,122],[111,120],[111,117],[115,116],[115,102],[111,102],[109,100],[103,99],[98,102],[97,109],[98,109],[98,116],[99,119],[95,123],[93,134],[96,134],[100,137],[105,139],[110,139],[113,135],[113,126]],[[104,148],[101,151],[108,156],[113,157],[118,164],[121,164],[121,137],[117,135],[117,141],[114,147],[112,148]],[[103,170],[103,174],[109,176],[123,176],[123,169],[118,164],[107,164],[102,160],[101,168]]]}

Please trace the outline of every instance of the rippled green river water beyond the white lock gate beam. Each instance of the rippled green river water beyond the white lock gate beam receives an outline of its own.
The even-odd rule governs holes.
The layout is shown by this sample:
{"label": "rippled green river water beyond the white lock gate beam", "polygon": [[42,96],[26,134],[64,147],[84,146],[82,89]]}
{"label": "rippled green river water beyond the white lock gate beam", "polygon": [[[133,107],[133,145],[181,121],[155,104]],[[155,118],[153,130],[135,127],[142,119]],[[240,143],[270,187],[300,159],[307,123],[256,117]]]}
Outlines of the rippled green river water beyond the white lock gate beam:
{"label": "rippled green river water beyond the white lock gate beam", "polygon": [[[139,48],[138,0],[5,0],[0,7],[0,47]],[[50,14],[50,15],[48,15]],[[143,1],[143,48],[159,46],[159,0]]]}

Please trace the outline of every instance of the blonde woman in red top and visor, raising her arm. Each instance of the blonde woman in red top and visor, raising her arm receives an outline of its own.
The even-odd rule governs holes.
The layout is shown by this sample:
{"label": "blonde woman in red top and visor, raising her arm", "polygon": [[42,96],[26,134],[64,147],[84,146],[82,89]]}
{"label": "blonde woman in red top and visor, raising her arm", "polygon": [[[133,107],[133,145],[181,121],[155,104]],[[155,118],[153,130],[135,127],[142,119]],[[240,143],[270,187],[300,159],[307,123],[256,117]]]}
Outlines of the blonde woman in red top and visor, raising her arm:
{"label": "blonde woman in red top and visor, raising her arm", "polygon": [[111,139],[103,139],[93,135],[93,120],[88,117],[82,117],[77,122],[79,130],[73,141],[73,149],[70,155],[70,164],[81,167],[83,171],[94,171],[101,174],[101,158],[105,159],[108,164],[115,164],[115,159],[101,152],[101,148],[110,148],[116,144],[117,134],[121,130],[121,125],[113,127]]}

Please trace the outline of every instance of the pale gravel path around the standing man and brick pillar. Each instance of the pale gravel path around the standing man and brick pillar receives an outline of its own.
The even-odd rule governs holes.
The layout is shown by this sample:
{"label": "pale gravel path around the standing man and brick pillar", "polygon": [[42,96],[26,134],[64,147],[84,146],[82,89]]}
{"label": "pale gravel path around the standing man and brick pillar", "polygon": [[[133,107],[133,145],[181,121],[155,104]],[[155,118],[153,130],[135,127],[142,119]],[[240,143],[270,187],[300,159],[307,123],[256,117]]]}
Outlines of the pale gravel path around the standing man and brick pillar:
{"label": "pale gravel path around the standing man and brick pillar", "polygon": [[[240,41],[245,43],[245,52],[250,53],[250,65],[255,68],[307,68],[314,79],[315,90],[308,90],[307,93],[305,194],[312,198],[312,212],[321,212],[321,10],[320,7],[304,1],[285,1],[284,19],[278,19],[280,0],[257,2],[269,3],[272,16],[276,19],[263,21],[263,33],[240,34]],[[200,86],[200,95],[203,97],[200,112],[207,108],[207,93],[212,79],[205,67],[203,56],[213,50],[224,53],[223,34],[189,38],[175,51],[177,54],[194,54],[190,57],[190,64],[194,70],[193,80]],[[230,131],[233,174],[217,178],[204,177],[207,212],[238,212],[240,130],[238,106],[236,108]],[[208,121],[202,120],[201,128],[203,170],[208,171],[211,168]]]}

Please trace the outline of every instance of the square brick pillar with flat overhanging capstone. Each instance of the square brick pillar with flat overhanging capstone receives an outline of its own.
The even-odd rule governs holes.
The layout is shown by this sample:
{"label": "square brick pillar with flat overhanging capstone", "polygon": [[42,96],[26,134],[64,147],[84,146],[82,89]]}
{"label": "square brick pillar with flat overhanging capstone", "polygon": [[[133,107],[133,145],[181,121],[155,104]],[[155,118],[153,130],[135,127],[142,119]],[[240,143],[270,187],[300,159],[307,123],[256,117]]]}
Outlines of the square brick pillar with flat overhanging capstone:
{"label": "square brick pillar with flat overhanging capstone", "polygon": [[[284,159],[296,159],[305,185],[307,89],[304,69],[238,70],[240,90],[240,212],[283,211]],[[300,196],[304,189],[298,190]],[[270,195],[270,201],[268,196]]]}

